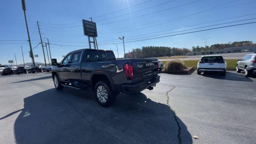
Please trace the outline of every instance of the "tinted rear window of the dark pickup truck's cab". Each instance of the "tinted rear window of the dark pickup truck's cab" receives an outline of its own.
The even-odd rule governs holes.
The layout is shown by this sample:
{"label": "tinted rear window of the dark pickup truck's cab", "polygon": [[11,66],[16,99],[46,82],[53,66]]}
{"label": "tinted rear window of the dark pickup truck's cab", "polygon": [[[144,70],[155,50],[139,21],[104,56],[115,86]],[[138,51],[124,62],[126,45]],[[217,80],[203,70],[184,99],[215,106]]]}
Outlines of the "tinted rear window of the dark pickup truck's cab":
{"label": "tinted rear window of the dark pickup truck's cab", "polygon": [[86,52],[85,61],[116,60],[112,52],[90,51]]}

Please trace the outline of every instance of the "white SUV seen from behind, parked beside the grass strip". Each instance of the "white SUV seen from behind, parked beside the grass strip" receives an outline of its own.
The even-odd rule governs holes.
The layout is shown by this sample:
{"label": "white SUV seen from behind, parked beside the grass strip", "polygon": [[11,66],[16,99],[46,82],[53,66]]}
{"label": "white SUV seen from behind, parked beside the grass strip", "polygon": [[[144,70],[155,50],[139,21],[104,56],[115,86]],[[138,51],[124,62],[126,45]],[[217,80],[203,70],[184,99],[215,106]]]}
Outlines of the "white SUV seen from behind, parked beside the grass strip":
{"label": "white SUV seen from behind, parked beside the grass strip", "polygon": [[202,56],[197,63],[197,74],[201,72],[218,72],[226,75],[226,61],[220,55]]}

